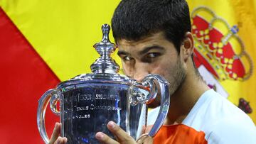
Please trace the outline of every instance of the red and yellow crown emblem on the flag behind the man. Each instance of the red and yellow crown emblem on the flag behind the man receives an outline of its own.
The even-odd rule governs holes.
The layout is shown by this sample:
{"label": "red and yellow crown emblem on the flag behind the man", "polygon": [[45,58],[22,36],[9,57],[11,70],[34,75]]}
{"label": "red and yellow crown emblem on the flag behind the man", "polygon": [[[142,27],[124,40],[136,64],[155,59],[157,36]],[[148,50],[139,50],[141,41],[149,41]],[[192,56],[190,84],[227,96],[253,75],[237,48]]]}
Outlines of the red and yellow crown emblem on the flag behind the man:
{"label": "red and yellow crown emblem on the flag behind the man", "polygon": [[252,75],[252,60],[238,36],[238,26],[230,26],[206,6],[191,13],[192,33],[195,40],[195,58],[216,79],[245,80]]}

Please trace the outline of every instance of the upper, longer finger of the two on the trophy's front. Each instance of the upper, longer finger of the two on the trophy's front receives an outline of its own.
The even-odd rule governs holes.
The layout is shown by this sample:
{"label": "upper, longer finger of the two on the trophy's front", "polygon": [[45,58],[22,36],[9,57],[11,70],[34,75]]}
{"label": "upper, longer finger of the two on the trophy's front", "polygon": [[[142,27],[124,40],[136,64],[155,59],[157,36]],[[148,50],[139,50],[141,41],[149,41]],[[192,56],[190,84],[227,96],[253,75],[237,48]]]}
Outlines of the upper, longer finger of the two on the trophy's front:
{"label": "upper, longer finger of the two on the trophy's front", "polygon": [[119,143],[136,143],[136,141],[116,123],[110,121],[107,123],[107,128],[117,137]]}

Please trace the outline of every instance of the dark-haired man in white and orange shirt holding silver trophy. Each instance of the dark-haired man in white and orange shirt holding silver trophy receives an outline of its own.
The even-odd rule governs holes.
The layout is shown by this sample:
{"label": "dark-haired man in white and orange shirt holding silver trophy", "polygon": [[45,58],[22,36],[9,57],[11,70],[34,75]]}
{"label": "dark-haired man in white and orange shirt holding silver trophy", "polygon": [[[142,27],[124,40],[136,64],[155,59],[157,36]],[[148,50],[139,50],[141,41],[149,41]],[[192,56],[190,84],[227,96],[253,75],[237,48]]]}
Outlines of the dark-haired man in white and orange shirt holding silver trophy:
{"label": "dark-haired man in white and orange shirt holding silver trophy", "polygon": [[[127,76],[140,81],[146,74],[160,74],[170,83],[171,106],[154,143],[256,143],[252,120],[210,89],[193,65],[185,0],[122,0],[114,11],[112,31]],[[136,143],[117,124],[107,127],[117,140],[99,132],[95,137],[101,143]],[[57,123],[51,143],[59,129]]]}

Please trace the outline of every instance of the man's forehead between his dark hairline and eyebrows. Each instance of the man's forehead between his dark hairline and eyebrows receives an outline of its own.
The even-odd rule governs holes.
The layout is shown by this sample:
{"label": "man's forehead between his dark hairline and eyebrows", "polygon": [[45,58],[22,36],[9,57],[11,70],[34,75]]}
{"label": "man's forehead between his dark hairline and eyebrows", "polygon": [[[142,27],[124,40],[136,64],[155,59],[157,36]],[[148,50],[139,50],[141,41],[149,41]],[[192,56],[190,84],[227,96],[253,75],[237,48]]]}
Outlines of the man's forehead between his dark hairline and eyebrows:
{"label": "man's forehead between his dark hairline and eyebrows", "polygon": [[159,45],[159,46],[170,46],[173,45],[169,40],[166,40],[164,33],[159,32],[159,33],[154,33],[149,36],[146,36],[144,38],[141,38],[140,40],[126,40],[126,39],[121,39],[117,40],[117,45],[119,50],[139,50],[147,47],[151,47],[154,45]]}

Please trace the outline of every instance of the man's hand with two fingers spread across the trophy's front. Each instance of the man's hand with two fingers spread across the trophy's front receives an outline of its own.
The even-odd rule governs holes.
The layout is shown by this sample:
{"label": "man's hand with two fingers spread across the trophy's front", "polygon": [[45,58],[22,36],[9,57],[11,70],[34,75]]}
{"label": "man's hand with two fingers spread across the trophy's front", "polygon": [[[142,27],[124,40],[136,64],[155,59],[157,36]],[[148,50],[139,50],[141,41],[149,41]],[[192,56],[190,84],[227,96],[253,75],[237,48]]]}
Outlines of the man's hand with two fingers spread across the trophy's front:
{"label": "man's hand with two fingers spread across the trophy's front", "polygon": [[95,138],[100,141],[100,143],[105,143],[105,144],[134,144],[136,141],[128,135],[122,128],[117,126],[116,123],[113,121],[110,121],[107,123],[107,128],[115,135],[117,138],[118,142],[116,140],[113,140],[110,138],[108,135],[102,132],[98,132],[95,135]]}

